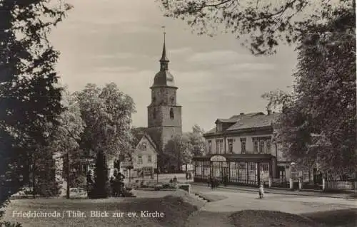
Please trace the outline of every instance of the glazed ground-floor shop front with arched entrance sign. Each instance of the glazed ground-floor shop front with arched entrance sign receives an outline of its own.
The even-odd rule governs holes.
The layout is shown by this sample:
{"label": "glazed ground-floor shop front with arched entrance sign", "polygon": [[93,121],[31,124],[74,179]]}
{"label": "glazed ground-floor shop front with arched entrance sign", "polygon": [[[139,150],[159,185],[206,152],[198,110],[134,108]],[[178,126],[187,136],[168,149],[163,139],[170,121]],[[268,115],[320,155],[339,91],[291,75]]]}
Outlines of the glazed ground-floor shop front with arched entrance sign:
{"label": "glazed ground-floor shop front with arched entrance sign", "polygon": [[276,176],[276,157],[271,154],[219,154],[193,157],[195,182],[208,182],[210,177],[228,184],[268,185],[269,177]]}

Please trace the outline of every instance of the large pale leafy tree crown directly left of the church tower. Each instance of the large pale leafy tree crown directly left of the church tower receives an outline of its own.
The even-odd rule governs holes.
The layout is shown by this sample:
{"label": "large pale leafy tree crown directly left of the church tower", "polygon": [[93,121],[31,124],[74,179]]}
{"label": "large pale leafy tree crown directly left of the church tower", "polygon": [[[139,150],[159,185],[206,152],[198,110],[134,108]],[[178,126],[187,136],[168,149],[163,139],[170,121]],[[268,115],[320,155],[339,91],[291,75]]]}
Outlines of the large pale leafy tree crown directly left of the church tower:
{"label": "large pale leafy tree crown directly left of the church tower", "polygon": [[122,93],[115,83],[102,89],[88,84],[76,95],[86,122],[81,149],[103,150],[108,157],[131,149],[130,125],[135,105],[129,95]]}

